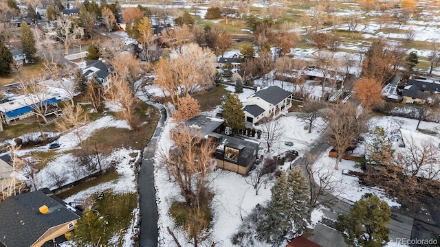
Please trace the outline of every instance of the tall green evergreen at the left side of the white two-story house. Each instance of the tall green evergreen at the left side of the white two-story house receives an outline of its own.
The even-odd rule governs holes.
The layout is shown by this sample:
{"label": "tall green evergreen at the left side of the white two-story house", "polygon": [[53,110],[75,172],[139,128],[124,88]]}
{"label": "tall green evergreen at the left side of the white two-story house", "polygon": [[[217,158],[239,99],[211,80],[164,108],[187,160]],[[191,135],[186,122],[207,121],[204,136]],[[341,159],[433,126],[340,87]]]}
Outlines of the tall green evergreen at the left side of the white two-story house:
{"label": "tall green evergreen at the left side of the white two-story house", "polygon": [[222,108],[225,124],[232,128],[232,132],[245,128],[245,113],[241,109],[243,108],[243,104],[241,104],[237,95],[229,95]]}

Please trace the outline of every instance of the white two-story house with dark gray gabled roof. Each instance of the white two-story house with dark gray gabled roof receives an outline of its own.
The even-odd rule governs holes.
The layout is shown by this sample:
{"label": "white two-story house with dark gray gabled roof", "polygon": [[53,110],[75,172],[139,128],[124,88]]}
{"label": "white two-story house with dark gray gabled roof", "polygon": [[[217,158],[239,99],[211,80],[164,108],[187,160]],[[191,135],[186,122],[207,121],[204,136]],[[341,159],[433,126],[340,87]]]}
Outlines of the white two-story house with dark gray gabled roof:
{"label": "white two-story house with dark gray gabled roof", "polygon": [[279,117],[292,107],[292,93],[279,86],[269,86],[256,91],[243,103],[245,120],[255,124],[264,117]]}

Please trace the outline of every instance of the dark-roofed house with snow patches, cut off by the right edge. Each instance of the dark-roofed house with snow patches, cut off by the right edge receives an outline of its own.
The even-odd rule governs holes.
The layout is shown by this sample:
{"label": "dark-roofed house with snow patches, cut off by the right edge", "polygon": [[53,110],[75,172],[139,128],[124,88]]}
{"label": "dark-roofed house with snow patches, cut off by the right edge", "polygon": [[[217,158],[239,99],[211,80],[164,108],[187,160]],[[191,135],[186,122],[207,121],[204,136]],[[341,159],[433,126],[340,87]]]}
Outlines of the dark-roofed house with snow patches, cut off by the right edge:
{"label": "dark-roofed house with snow patches, cut off by the right edge", "polygon": [[440,93],[439,78],[417,78],[406,82],[401,95],[402,102],[409,104],[425,104],[433,94]]}

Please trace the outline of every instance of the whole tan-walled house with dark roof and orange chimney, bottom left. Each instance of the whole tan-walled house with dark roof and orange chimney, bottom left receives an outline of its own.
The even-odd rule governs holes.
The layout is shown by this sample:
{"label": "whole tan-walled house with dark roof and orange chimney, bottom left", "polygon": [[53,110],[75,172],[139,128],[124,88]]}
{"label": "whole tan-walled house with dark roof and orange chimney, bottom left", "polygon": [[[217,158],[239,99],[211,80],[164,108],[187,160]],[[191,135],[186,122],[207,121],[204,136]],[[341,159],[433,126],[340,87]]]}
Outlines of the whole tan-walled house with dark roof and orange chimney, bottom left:
{"label": "whole tan-walled house with dark roof and orange chimney, bottom left", "polygon": [[80,217],[78,210],[43,191],[10,196],[0,202],[0,246],[54,246]]}

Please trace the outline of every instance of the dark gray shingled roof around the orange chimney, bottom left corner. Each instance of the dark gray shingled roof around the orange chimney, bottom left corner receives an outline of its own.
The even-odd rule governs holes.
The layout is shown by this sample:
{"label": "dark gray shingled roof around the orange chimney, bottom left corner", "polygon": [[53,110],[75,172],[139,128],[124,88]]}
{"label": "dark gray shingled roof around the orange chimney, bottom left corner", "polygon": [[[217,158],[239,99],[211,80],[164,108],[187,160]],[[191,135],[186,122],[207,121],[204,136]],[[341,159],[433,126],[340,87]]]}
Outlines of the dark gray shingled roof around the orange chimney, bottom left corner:
{"label": "dark gray shingled roof around the orange chimney, bottom left corner", "polygon": [[[46,205],[49,213],[41,214]],[[49,228],[80,216],[42,191],[10,196],[0,203],[0,246],[29,247]]]}

